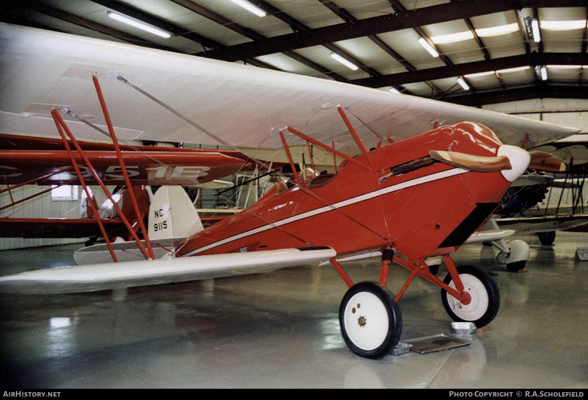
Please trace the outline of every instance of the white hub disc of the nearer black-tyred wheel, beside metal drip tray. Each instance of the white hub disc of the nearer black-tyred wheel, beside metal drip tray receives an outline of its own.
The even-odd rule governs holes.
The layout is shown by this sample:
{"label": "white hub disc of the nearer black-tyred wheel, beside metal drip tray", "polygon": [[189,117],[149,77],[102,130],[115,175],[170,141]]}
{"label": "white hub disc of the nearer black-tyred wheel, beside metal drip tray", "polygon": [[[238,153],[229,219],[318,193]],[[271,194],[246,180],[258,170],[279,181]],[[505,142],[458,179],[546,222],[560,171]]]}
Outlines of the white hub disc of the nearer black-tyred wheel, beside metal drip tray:
{"label": "white hub disc of the nearer black-tyred wheel, beside metal drip tray", "polygon": [[389,328],[386,306],[376,295],[359,292],[345,306],[345,330],[360,349],[376,349],[386,340]]}

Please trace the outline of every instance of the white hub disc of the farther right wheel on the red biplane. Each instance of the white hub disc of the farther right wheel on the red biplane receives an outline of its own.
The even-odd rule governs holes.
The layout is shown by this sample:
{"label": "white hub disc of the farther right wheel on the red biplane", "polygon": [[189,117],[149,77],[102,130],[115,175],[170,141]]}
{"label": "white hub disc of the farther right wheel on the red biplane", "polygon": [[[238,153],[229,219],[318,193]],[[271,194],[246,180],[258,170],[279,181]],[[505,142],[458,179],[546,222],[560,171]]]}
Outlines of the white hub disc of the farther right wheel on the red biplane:
{"label": "white hub disc of the farther right wheel on the red biplane", "polygon": [[[460,274],[459,278],[462,280],[463,290],[470,295],[470,302],[462,304],[449,293],[447,293],[447,302],[453,313],[459,318],[464,321],[477,321],[477,319],[482,318],[488,309],[489,299],[486,286],[480,279],[470,274]],[[453,281],[450,282],[449,286],[455,289]]]}

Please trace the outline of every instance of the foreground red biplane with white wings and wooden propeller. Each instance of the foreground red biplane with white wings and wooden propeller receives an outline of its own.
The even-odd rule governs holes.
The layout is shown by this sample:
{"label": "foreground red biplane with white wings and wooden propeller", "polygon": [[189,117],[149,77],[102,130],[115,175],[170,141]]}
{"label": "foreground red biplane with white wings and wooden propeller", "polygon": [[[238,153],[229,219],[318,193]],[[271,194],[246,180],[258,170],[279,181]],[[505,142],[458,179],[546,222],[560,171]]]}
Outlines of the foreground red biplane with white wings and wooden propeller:
{"label": "foreground red biplane with white wings and wooden propeller", "polygon": [[[521,145],[575,132],[338,82],[35,29],[1,28],[4,54],[11,55],[6,61],[6,75],[14,79],[11,88],[24,84],[25,75],[30,79],[27,86],[37,92],[26,93],[26,101],[4,104],[0,129],[55,135],[57,122],[60,130],[72,126],[72,131],[79,128],[82,135],[91,136],[83,124],[64,121],[57,111],[52,111],[53,118],[42,111],[36,116],[23,112],[44,98],[45,106],[61,103],[94,113],[95,99],[91,101],[79,86],[91,90],[85,74],[98,71],[115,78],[104,83],[116,98],[112,119],[124,129],[115,129],[106,116],[111,134],[118,129],[150,140],[221,141],[233,148],[279,146],[292,171],[296,169],[289,146],[296,140],[344,160],[332,174],[311,174],[309,179],[293,174],[277,182],[256,204],[190,236],[163,259],[4,276],[3,291],[93,291],[329,261],[348,286],[339,309],[343,338],[353,352],[369,358],[385,356],[399,341],[402,316],[397,302],[417,275],[439,286],[443,305],[456,321],[483,326],[495,318],[500,301],[492,278],[474,266],[455,266],[450,255],[526,171],[531,157]],[[93,52],[98,46],[100,51]],[[11,74],[17,67],[18,74]],[[36,76],[49,84],[35,86],[31,81]],[[147,91],[141,88],[149,88],[151,99],[165,108],[141,112],[145,107],[136,92],[122,84],[142,94]],[[168,114],[173,108],[159,99],[188,110],[188,115],[174,114],[198,121],[191,125],[199,131],[171,122]],[[131,113],[129,104],[138,106],[139,112]],[[83,153],[76,148],[76,154]],[[91,169],[91,160],[84,164]],[[117,171],[125,171],[125,166]],[[132,185],[126,178],[125,184]],[[340,261],[374,252],[382,252],[379,278],[354,284]],[[433,256],[445,260],[449,274],[443,281],[429,270],[427,259]],[[153,258],[149,253],[146,257]],[[386,288],[392,262],[411,271],[397,295]]]}

